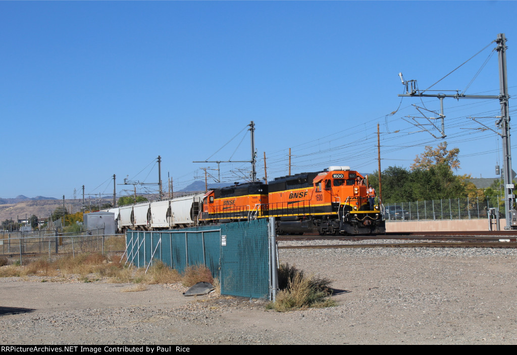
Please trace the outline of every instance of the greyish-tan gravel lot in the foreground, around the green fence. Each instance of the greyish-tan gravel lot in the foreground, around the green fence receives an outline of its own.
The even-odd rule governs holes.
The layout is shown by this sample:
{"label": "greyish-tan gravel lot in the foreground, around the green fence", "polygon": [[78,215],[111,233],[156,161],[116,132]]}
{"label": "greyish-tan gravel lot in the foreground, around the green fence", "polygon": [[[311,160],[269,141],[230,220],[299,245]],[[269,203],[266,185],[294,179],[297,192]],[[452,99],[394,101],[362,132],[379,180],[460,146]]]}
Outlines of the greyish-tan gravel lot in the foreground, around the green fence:
{"label": "greyish-tan gravel lot in the foreground, around the green fence", "polygon": [[[295,243],[309,242],[281,245]],[[333,280],[339,305],[278,313],[260,300],[184,297],[180,285],[123,292],[133,286],[7,278],[0,344],[517,344],[517,250],[284,249],[279,257]]]}

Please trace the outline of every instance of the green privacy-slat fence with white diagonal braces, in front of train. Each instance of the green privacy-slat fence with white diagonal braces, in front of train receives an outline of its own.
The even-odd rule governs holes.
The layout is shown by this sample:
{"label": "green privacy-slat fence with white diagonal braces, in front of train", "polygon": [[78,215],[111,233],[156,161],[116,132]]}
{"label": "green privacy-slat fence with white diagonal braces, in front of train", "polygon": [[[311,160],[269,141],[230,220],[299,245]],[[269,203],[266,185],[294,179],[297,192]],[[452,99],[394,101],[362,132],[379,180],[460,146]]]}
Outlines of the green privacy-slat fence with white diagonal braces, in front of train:
{"label": "green privacy-slat fence with white diagonal braces, in front of train", "polygon": [[182,273],[205,265],[218,277],[222,295],[269,298],[267,220],[163,231],[127,231],[127,262],[148,268],[161,260]]}

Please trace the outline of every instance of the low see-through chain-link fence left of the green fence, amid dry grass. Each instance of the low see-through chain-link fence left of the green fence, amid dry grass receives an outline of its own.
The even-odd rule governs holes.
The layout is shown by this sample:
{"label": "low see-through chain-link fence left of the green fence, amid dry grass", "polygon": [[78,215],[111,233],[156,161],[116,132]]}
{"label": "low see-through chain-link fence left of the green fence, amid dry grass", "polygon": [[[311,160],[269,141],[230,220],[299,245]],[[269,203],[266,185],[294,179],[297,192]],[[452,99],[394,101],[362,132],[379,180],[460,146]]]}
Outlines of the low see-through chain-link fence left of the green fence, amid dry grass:
{"label": "low see-through chain-link fence left of the green fence, amid dry grass", "polygon": [[85,252],[123,252],[124,235],[105,235],[104,229],[80,233],[50,233],[41,231],[2,231],[0,255],[16,258],[23,264],[24,256],[71,254]]}

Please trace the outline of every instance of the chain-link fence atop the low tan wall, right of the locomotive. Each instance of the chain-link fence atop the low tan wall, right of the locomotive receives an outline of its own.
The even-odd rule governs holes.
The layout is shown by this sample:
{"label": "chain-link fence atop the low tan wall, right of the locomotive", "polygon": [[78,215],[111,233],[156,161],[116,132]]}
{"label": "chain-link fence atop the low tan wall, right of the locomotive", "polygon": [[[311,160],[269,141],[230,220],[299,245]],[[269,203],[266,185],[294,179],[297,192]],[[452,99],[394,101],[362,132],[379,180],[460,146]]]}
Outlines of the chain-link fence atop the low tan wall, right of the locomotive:
{"label": "chain-link fence atop the low tan wall, right of the locomotive", "polygon": [[[488,219],[490,208],[499,208],[495,198],[450,198],[383,204],[386,221],[444,221]],[[504,208],[499,211],[499,217]]]}

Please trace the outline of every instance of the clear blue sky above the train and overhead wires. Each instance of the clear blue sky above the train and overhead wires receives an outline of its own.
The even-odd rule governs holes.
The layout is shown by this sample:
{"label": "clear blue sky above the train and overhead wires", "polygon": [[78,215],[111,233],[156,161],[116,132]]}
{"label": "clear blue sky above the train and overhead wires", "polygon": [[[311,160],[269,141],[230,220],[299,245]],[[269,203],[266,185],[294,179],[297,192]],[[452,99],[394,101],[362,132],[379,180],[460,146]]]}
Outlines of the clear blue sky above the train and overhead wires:
{"label": "clear blue sky above the train and overhead wires", "polygon": [[[377,123],[382,169],[409,167],[441,140],[406,116],[439,101],[401,102],[398,73],[428,88],[505,33],[512,95],[516,10],[510,1],[0,2],[0,197],[79,197],[83,184],[110,194],[113,174],[156,182],[159,155],[164,186],[169,173],[180,190],[217,167],[192,161],[235,135],[210,160],[250,159],[249,135],[238,133],[251,120],[258,177],[264,152],[268,178],[286,175],[289,148],[293,173],[373,172]],[[433,89],[465,89],[493,48]],[[465,93],[481,92],[499,93],[497,53]],[[498,100],[444,106],[458,173],[494,177],[500,140],[467,117],[495,128]],[[221,164],[221,176],[236,181],[246,169]]]}

